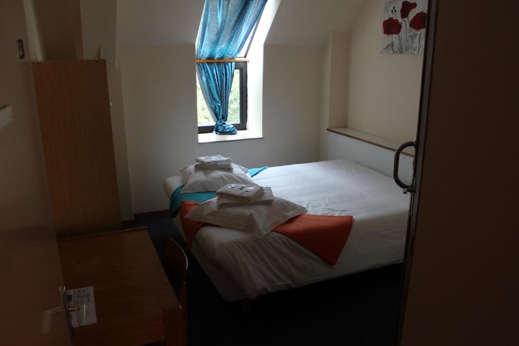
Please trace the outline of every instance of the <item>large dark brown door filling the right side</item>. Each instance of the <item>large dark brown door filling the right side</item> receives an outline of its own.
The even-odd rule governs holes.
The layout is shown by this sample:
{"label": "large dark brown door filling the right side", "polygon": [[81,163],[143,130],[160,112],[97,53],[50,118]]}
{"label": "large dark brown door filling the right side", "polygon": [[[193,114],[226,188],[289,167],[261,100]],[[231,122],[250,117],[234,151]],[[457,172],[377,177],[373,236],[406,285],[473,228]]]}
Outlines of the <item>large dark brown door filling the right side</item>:
{"label": "large dark brown door filling the right side", "polygon": [[516,345],[519,3],[431,5],[398,344]]}

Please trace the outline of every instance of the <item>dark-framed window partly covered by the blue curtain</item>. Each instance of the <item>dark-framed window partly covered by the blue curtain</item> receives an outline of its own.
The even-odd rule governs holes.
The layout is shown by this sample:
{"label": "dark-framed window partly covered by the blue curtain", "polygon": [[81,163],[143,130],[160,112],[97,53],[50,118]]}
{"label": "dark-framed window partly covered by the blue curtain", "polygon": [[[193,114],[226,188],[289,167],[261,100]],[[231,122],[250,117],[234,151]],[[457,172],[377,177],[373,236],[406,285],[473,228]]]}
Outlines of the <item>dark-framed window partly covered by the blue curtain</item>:
{"label": "dark-framed window partly covered by the blue curtain", "polygon": [[[196,74],[195,74],[196,77]],[[198,113],[198,133],[213,131],[214,120],[203,98],[198,78],[196,78],[196,99]],[[236,62],[233,85],[229,95],[229,115],[227,123],[236,130],[247,129],[247,62]]]}

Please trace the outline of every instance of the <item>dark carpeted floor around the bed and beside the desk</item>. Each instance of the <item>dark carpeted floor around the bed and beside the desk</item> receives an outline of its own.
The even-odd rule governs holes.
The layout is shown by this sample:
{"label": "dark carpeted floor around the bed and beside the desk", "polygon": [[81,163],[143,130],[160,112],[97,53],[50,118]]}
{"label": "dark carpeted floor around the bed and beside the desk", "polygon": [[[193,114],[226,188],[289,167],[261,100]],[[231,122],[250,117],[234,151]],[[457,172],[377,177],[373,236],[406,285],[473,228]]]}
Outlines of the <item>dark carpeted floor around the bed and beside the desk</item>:
{"label": "dark carpeted floor around the bed and beside the desk", "polygon": [[[185,246],[166,216],[137,220],[159,257],[168,238]],[[250,312],[224,301],[188,254],[189,345],[392,345],[401,265],[258,297]]]}

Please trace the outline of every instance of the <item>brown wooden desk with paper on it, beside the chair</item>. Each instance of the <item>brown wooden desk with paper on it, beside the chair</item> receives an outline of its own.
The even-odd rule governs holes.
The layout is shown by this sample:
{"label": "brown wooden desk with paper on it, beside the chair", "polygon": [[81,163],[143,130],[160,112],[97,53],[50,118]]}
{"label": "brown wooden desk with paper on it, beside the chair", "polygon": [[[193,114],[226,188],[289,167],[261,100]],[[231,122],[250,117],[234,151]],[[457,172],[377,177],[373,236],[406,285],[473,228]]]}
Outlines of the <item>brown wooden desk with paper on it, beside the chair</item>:
{"label": "brown wooden desk with paper on it, beside the chair", "polygon": [[67,289],[93,286],[97,323],[75,345],[185,345],[183,315],[146,228],[58,242]]}

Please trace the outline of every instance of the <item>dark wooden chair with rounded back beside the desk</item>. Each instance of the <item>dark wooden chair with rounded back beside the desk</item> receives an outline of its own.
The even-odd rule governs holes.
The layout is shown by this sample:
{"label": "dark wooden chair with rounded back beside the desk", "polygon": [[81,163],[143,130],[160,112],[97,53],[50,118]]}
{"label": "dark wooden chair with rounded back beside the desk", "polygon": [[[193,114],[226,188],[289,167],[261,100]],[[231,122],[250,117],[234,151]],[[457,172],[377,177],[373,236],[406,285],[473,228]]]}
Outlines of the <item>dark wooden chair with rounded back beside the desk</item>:
{"label": "dark wooden chair with rounded back beside the desk", "polygon": [[184,250],[182,250],[182,247],[171,238],[166,241],[164,253],[166,255],[166,270],[168,271],[171,285],[184,313],[184,329],[187,345],[187,286],[185,283],[187,256]]}

